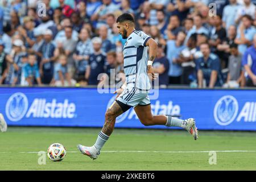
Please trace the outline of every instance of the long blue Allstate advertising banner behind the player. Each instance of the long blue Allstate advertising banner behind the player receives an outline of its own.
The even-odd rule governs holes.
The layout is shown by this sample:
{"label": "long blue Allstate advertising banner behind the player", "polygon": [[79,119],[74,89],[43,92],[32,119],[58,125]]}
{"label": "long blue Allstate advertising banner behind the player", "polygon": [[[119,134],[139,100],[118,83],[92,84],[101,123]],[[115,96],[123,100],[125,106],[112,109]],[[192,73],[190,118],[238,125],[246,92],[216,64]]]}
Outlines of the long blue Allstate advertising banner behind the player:
{"label": "long blue Allstate advertising banner behind the player", "polygon": [[[256,131],[256,90],[160,89],[158,95],[153,114],[195,118],[199,130]],[[0,88],[0,98],[9,126],[102,127],[115,95],[97,88]],[[167,129],[143,126],[133,108],[115,127]]]}

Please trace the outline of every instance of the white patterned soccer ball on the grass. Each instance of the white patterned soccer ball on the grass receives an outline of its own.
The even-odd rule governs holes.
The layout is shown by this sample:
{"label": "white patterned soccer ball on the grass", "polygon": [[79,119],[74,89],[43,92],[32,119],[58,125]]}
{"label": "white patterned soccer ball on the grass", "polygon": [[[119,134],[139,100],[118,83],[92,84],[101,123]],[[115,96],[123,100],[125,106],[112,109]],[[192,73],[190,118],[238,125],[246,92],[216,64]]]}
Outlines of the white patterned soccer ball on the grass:
{"label": "white patterned soccer ball on the grass", "polygon": [[52,161],[61,161],[65,158],[66,149],[60,143],[53,143],[48,147],[47,155]]}

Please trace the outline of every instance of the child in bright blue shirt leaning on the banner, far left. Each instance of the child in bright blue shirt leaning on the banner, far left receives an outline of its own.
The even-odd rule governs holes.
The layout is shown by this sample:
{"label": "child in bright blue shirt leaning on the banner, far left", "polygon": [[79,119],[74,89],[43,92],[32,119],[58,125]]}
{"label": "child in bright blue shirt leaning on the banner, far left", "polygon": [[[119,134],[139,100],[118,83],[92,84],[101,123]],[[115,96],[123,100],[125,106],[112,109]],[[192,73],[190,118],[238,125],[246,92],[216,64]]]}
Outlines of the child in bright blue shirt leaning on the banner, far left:
{"label": "child in bright blue shirt leaning on the banner, far left", "polygon": [[28,63],[24,65],[22,72],[29,86],[34,85],[36,82],[38,85],[42,85],[35,54],[28,55]]}

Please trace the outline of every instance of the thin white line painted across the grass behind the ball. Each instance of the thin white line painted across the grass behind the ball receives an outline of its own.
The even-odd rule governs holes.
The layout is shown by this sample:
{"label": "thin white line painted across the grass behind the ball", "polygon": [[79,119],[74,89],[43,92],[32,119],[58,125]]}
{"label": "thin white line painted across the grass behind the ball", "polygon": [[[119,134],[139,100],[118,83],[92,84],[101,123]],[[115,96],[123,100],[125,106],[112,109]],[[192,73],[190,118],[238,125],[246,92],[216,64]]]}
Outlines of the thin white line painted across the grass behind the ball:
{"label": "thin white line painted across the grass behind the ball", "polygon": [[[79,151],[67,151],[68,153],[77,153]],[[105,153],[209,153],[209,152],[256,152],[254,150],[210,150],[210,151],[101,151]],[[9,153],[9,152],[0,152]],[[20,154],[38,154],[38,152],[19,152]]]}

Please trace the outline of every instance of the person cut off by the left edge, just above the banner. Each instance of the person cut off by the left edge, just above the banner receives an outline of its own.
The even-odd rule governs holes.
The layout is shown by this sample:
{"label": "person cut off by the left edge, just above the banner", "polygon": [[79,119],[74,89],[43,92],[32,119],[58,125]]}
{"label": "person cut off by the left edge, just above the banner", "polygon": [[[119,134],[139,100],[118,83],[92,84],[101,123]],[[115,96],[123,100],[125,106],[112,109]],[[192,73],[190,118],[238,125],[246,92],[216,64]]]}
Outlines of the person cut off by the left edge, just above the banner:
{"label": "person cut off by the left edge, just above the banner", "polygon": [[0,39],[0,85],[3,84],[7,75],[7,60],[5,49],[5,43]]}

